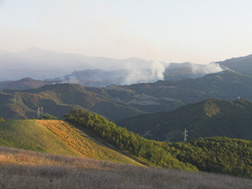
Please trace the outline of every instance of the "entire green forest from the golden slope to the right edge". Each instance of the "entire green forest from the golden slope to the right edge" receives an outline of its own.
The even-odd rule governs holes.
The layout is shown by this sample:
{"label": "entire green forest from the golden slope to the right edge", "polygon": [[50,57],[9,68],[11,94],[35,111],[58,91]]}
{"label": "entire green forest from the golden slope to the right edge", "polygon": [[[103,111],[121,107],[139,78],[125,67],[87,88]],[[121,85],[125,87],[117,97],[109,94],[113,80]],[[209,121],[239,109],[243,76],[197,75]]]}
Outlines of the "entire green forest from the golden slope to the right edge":
{"label": "entire green forest from the golden slope to the right edge", "polygon": [[251,141],[212,137],[187,143],[157,142],[83,110],[75,109],[65,115],[65,119],[79,128],[95,132],[124,153],[128,152],[145,161],[147,165],[252,177]]}

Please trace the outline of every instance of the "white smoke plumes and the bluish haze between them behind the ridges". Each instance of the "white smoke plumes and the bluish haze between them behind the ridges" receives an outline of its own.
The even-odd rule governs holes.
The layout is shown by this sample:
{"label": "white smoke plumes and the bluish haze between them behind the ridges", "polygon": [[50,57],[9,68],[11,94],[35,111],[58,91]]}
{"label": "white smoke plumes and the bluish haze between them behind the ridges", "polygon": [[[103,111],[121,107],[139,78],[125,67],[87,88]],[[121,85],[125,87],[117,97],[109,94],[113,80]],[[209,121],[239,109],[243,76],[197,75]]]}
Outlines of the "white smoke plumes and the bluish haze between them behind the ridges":
{"label": "white smoke plumes and the bluish haze between them behind the ridges", "polygon": [[[111,67],[111,70],[113,66]],[[158,80],[180,80],[197,78],[210,73],[221,72],[219,64],[197,65],[192,63],[166,64],[158,61],[144,61],[131,58],[124,62],[120,70],[91,69],[76,71],[65,77],[67,83],[84,86],[105,87],[108,85],[130,85]]]}

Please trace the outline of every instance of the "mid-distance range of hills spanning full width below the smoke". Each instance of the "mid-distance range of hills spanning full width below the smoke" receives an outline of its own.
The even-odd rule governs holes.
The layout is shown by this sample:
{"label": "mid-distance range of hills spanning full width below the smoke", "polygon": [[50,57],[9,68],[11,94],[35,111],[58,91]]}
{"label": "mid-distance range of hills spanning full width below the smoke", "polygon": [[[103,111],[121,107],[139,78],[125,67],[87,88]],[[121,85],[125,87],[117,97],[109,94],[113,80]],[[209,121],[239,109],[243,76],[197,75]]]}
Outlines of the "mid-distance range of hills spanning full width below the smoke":
{"label": "mid-distance range of hills spanning full width below the smoke", "polygon": [[36,117],[38,107],[61,117],[74,107],[84,108],[111,120],[144,113],[171,111],[206,99],[252,100],[252,77],[233,71],[197,79],[105,88],[77,84],[54,84],[22,91],[0,93],[0,116],[6,119]]}

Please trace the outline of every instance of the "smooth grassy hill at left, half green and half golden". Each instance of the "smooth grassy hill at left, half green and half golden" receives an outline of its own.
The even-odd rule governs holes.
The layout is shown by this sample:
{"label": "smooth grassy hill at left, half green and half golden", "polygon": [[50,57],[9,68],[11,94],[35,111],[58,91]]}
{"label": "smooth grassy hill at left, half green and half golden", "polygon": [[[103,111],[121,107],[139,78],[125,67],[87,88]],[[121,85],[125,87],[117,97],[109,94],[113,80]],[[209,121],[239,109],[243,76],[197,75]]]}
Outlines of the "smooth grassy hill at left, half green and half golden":
{"label": "smooth grassy hill at left, half green and half golden", "polygon": [[63,121],[2,122],[0,136],[1,146],[138,164]]}

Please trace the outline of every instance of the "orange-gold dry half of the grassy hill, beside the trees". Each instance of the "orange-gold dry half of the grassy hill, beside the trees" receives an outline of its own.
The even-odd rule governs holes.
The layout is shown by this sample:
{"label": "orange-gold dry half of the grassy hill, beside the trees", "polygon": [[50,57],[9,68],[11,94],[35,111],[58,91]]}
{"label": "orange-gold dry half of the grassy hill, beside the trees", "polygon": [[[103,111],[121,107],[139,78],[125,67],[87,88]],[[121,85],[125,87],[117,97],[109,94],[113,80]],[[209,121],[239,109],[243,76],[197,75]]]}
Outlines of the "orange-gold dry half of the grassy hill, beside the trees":
{"label": "orange-gold dry half of the grassy hill, beside the trees", "polygon": [[82,157],[140,165],[127,156],[101,144],[67,122],[59,120],[37,120],[37,122],[45,126]]}

